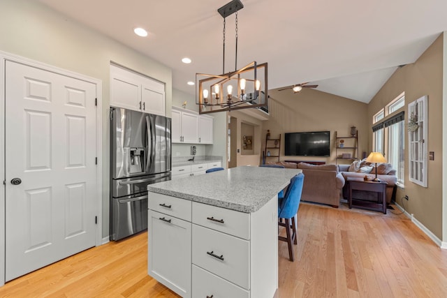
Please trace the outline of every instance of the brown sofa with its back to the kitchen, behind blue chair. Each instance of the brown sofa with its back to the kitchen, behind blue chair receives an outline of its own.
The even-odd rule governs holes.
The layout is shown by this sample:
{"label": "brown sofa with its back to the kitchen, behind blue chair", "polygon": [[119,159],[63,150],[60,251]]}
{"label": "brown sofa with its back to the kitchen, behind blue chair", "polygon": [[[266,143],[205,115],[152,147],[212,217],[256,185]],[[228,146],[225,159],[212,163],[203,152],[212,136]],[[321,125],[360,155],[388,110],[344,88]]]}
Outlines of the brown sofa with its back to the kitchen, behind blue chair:
{"label": "brown sofa with its back to the kitchen, behind blue chair", "polygon": [[279,161],[270,164],[301,169],[305,174],[301,200],[329,204],[339,207],[344,178],[337,165],[310,165],[309,163],[287,163]]}

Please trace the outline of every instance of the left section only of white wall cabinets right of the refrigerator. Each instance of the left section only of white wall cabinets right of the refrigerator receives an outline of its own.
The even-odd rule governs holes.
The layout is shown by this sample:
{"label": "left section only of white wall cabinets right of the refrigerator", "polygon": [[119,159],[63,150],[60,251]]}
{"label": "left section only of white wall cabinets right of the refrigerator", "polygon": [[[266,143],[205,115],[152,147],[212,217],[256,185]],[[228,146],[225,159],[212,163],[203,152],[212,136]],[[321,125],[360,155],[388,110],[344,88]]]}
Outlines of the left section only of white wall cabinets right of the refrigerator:
{"label": "left section only of white wall cabinets right of the refrigerator", "polygon": [[173,143],[198,143],[198,114],[193,111],[173,107],[172,112]]}

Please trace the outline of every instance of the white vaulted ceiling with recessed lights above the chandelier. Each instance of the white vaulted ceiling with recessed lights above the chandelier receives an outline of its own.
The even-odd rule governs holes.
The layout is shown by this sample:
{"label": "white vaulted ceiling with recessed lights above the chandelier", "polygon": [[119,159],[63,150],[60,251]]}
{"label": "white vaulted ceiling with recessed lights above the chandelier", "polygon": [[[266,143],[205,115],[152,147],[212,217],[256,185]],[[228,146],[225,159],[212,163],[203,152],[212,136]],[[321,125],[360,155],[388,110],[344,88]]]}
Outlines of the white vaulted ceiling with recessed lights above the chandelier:
{"label": "white vaulted ceiling with recessed lights above the chandelier", "polygon": [[[229,0],[39,1],[166,64],[175,89],[194,94],[186,82],[196,73],[222,72],[217,9]],[[268,62],[269,89],[311,82],[365,103],[397,66],[416,61],[447,30],[445,0],[241,1],[237,67]],[[135,27],[149,36],[136,36]],[[226,18],[225,67],[235,69],[234,14]]]}

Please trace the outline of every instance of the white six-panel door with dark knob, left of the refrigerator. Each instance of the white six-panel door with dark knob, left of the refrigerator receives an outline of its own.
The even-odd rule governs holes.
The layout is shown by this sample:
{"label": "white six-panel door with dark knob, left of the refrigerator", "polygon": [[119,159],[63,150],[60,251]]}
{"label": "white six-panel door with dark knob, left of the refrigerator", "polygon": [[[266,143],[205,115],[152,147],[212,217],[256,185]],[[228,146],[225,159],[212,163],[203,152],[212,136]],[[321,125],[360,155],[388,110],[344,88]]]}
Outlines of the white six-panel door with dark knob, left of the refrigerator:
{"label": "white six-panel door with dark knob, left of the refrigerator", "polygon": [[6,281],[95,245],[95,97],[6,61]]}

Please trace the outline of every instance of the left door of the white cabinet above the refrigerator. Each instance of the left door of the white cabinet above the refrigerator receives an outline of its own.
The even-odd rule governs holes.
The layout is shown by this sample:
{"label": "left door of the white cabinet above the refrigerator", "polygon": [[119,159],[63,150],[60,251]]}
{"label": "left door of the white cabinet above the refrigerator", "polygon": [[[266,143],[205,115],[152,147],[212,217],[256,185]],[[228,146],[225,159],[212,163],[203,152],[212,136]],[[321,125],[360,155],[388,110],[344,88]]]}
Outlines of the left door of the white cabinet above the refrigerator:
{"label": "left door of the white cabinet above the refrigerator", "polygon": [[[124,71],[124,70],[122,70]],[[112,73],[110,82],[110,105],[129,110],[140,110],[140,84],[129,76]]]}

